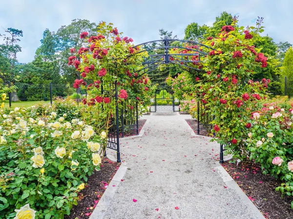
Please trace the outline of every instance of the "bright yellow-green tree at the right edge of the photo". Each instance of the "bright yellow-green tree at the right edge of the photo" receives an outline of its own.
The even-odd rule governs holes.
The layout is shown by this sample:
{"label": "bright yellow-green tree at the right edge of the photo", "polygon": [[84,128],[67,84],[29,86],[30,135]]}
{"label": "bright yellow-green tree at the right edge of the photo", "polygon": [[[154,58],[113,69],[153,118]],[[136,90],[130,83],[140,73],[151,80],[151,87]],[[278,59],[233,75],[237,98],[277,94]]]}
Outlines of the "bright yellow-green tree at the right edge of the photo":
{"label": "bright yellow-green tree at the right edge of the photo", "polygon": [[[293,49],[292,46],[287,50],[284,57],[284,62],[282,66],[282,75],[287,77],[287,83],[293,81]],[[284,83],[283,83],[283,90],[284,90]],[[287,86],[287,93],[293,94],[293,85]]]}

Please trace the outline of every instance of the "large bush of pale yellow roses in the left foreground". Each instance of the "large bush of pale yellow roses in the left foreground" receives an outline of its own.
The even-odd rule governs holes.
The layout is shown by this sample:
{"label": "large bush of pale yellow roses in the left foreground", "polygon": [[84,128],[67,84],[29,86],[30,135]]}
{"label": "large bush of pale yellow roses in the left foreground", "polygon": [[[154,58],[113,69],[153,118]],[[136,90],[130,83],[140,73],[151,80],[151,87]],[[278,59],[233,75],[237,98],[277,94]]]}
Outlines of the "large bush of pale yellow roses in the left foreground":
{"label": "large bush of pale yellow roses in the left foreground", "polygon": [[100,169],[105,131],[58,105],[0,110],[1,219],[63,218]]}

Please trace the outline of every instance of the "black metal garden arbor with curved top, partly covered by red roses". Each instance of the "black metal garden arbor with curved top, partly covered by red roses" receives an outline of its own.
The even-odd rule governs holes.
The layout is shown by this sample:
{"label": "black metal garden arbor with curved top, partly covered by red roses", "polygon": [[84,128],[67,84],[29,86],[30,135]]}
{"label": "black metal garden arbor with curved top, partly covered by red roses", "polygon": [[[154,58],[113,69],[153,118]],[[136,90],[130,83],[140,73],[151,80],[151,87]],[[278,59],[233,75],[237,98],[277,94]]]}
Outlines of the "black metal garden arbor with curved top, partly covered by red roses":
{"label": "black metal garden arbor with curved top, partly covered by red roses", "polygon": [[[145,43],[141,43],[133,46],[134,49],[140,47],[139,52],[136,54],[144,53],[144,61],[142,62],[143,67],[141,69],[136,69],[135,72],[138,73],[139,76],[143,74],[149,73],[154,69],[158,68],[161,65],[173,64],[178,66],[180,69],[184,71],[188,71],[188,69],[193,69],[198,72],[203,72],[199,68],[196,68],[188,65],[188,63],[200,63],[202,62],[202,57],[209,54],[212,50],[209,46],[200,44],[195,41],[190,40],[180,40],[180,39],[170,39],[165,36],[164,39],[148,41]],[[188,51],[188,53],[178,53],[174,54],[171,50],[175,51],[176,49],[182,49]],[[197,57],[196,60],[192,59],[194,56]],[[119,110],[118,107],[118,91],[117,91],[117,82],[115,86],[115,99],[116,99],[116,116],[115,120],[112,120],[112,126],[109,130],[108,135],[108,143],[107,147],[114,149],[117,151],[117,162],[121,162],[120,158],[120,143],[119,138],[124,137],[124,122],[125,113],[129,113],[127,108],[123,108],[123,110]],[[203,104],[198,104],[198,115],[197,115],[197,123],[198,130],[197,134],[199,134],[200,125],[209,126],[209,121],[211,120],[209,115],[206,115],[204,112],[205,106]],[[201,114],[201,116],[200,116]],[[136,103],[136,109],[133,109],[133,113],[130,112],[131,118],[135,118],[135,123],[130,123],[129,126],[134,127],[131,129],[136,130],[136,134],[138,134],[138,104]],[[122,134],[120,136],[120,134]],[[106,155],[106,154],[105,154]],[[220,163],[223,161],[223,146],[221,145],[220,151]]]}

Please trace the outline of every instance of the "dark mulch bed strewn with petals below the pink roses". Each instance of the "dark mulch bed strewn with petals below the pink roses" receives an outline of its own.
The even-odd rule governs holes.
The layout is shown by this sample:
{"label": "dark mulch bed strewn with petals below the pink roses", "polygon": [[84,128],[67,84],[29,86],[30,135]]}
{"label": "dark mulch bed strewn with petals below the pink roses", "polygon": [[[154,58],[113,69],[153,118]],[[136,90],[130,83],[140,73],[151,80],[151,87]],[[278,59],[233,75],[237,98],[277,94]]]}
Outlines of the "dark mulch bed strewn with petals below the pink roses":
{"label": "dark mulch bed strewn with petals below the pink roses", "polygon": [[259,164],[252,162],[224,163],[223,167],[240,186],[248,198],[268,219],[293,219],[291,201],[293,197],[275,191],[280,181],[270,175],[264,175]]}

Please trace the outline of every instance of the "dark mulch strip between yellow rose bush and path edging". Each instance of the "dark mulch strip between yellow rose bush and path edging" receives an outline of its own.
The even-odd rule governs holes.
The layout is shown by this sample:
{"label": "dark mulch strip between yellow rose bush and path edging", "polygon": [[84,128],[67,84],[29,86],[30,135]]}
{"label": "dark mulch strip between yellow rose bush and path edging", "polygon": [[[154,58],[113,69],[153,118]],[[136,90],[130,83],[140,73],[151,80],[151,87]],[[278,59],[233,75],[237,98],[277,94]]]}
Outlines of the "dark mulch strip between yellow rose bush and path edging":
{"label": "dark mulch strip between yellow rose bush and path edging", "polygon": [[88,219],[97,203],[100,201],[106,187],[111,182],[120,164],[103,159],[100,171],[88,177],[85,188],[78,194],[78,205],[73,205],[70,215],[64,219]]}

